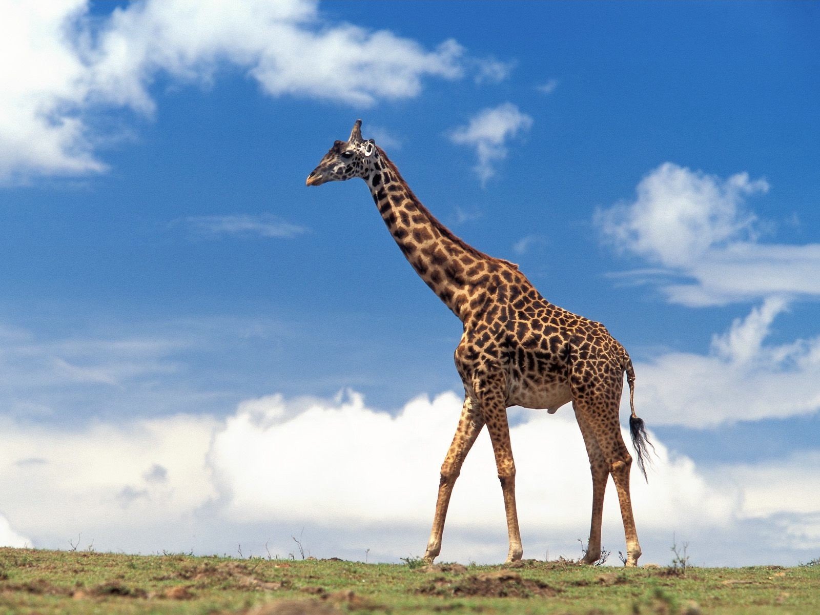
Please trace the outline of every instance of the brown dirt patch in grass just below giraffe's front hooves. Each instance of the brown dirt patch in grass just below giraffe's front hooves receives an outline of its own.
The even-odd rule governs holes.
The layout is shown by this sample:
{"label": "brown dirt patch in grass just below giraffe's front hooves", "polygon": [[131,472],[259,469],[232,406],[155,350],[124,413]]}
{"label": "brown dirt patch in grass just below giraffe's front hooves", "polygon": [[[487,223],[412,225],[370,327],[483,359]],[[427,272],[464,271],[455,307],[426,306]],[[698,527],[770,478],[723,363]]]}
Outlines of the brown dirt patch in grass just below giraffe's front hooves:
{"label": "brown dirt patch in grass just below giraffe's front hooves", "polygon": [[458,579],[447,579],[444,576],[417,590],[419,594],[439,595],[447,598],[481,596],[484,598],[532,598],[534,596],[550,597],[560,590],[542,581],[524,579],[517,572],[502,570],[470,575]]}

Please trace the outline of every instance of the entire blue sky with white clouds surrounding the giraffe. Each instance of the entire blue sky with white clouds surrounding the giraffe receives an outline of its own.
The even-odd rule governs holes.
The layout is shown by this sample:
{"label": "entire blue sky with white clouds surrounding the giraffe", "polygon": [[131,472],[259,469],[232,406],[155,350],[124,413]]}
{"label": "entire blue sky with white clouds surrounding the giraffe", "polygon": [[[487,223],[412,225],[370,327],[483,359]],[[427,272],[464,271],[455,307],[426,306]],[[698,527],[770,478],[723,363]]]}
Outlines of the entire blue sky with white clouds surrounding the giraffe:
{"label": "entire blue sky with white clouds surrounding the giraffe", "polygon": [[[401,536],[380,544],[387,561],[421,552],[458,414],[460,323],[361,182],[304,186],[361,117],[455,233],[518,262],[546,298],[629,349],[662,450],[636,505],[647,561],[664,563],[673,532],[703,563],[817,557],[818,7],[220,6],[2,8],[0,422],[19,444],[2,458],[9,544],[62,548],[83,532],[104,549],[231,551],[244,539],[280,540],[284,554],[307,526],[327,557],[360,557],[381,535]],[[419,399],[442,409],[441,444],[383,460],[399,444],[353,454],[335,441],[345,416],[361,426],[352,438],[400,439],[412,431],[402,417],[427,416]],[[519,472],[530,453],[517,433],[558,437],[547,448],[576,430],[567,408],[553,423],[511,416]],[[155,429],[157,443],[134,435]],[[66,474],[48,442],[87,466]],[[339,503],[332,472],[305,468],[294,476],[317,499],[292,515],[300,500],[282,492],[297,487],[271,476],[305,446],[344,458],[335,482],[348,476],[362,497]],[[531,557],[571,557],[585,537],[583,447],[566,446],[581,454],[565,470],[577,482],[534,458],[552,491],[519,495],[540,528],[530,548],[522,519]],[[124,465],[100,469],[89,451]],[[429,476],[402,469],[425,455]],[[362,478],[375,458],[417,485],[407,518],[362,503],[394,480]],[[481,463],[472,471],[492,481],[453,498],[500,506]],[[84,495],[62,522],[30,512],[39,496],[23,485],[49,499],[71,481]],[[713,502],[711,524],[684,503],[661,518],[675,498]],[[116,514],[80,512],[103,503]],[[164,516],[139,522],[139,507]],[[316,512],[329,507],[338,515]],[[604,547],[617,551],[617,517],[607,523]],[[503,557],[503,516],[457,510],[448,528],[443,558]],[[788,540],[770,544],[772,533]]]}

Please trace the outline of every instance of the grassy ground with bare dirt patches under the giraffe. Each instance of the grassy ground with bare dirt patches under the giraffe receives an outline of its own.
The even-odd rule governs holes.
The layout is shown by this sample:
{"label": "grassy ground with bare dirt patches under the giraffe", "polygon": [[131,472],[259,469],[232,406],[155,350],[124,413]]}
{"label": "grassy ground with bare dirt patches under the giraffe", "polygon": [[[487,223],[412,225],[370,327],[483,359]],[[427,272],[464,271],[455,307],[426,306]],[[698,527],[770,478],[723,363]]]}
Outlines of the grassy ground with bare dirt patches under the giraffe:
{"label": "grassy ground with bare dirt patches under the giraffe", "polygon": [[365,564],[0,549],[6,613],[820,613],[820,565]]}

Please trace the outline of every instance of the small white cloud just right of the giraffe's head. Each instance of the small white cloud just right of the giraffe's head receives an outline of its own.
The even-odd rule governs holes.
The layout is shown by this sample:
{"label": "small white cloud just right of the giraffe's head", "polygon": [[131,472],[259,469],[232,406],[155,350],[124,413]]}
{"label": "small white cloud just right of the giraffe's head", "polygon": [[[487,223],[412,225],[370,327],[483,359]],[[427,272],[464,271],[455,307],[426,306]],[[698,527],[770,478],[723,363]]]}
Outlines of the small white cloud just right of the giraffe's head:
{"label": "small white cloud just right of the giraffe's head", "polygon": [[454,144],[475,148],[478,164],[476,175],[485,185],[496,174],[495,164],[507,157],[506,144],[518,134],[532,127],[531,116],[522,113],[512,103],[486,108],[470,118],[467,125],[458,126],[449,133]]}

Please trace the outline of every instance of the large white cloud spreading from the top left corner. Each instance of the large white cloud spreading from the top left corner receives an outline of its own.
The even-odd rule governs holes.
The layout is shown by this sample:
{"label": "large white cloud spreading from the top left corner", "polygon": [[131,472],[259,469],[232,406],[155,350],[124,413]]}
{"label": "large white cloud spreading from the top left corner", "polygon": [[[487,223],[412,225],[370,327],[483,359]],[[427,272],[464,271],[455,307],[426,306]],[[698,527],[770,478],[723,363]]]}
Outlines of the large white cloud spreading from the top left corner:
{"label": "large white cloud spreading from the top left corner", "polygon": [[92,18],[87,0],[4,2],[0,14],[0,182],[105,170],[96,112],[153,112],[159,74],[208,84],[225,66],[272,96],[358,107],[421,92],[427,77],[498,75],[455,41],[428,50],[388,30],[331,23],[315,0],[147,0]]}

